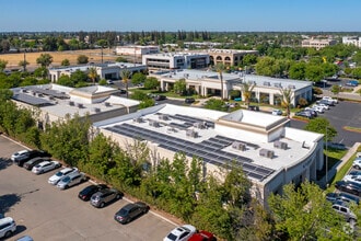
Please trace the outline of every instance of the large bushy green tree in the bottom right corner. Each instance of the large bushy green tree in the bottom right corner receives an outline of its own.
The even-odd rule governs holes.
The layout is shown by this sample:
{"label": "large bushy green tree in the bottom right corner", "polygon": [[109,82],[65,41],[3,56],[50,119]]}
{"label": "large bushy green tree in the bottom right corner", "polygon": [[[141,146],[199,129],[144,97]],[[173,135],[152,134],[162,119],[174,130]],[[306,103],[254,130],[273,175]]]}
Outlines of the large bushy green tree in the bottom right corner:
{"label": "large bushy green tree in the bottom right corner", "polygon": [[268,204],[276,229],[289,240],[348,240],[343,217],[336,215],[316,184],[304,182],[298,190],[288,184],[282,196],[271,194]]}

